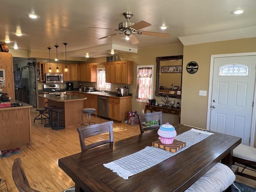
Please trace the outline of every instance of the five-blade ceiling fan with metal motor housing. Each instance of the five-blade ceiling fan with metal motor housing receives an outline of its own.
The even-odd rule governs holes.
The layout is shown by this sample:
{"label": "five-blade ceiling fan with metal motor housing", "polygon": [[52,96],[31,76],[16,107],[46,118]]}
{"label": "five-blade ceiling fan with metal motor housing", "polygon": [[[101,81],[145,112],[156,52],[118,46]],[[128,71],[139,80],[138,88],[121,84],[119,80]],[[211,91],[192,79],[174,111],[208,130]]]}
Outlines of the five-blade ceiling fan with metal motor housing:
{"label": "five-blade ceiling fan with metal motor housing", "polygon": [[130,38],[130,42],[132,44],[138,44],[139,41],[136,38],[134,34],[139,34],[139,35],[150,35],[150,36],[156,36],[156,37],[165,37],[168,38],[170,34],[165,34],[165,33],[158,33],[158,32],[150,32],[150,31],[142,31],[140,29],[151,26],[150,23],[145,22],[145,21],[140,21],[138,23],[133,23],[130,22],[129,19],[133,16],[132,12],[124,12],[123,16],[127,19],[125,22],[121,22],[118,24],[118,29],[111,29],[111,28],[100,28],[100,27],[90,27],[90,28],[100,28],[100,29],[110,29],[110,30],[115,30],[115,31],[120,31],[118,33],[114,33],[105,37],[101,37],[95,40],[100,40],[108,37],[112,37],[115,35],[120,35],[120,34],[125,34],[127,38]]}

